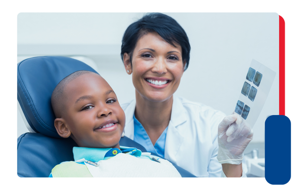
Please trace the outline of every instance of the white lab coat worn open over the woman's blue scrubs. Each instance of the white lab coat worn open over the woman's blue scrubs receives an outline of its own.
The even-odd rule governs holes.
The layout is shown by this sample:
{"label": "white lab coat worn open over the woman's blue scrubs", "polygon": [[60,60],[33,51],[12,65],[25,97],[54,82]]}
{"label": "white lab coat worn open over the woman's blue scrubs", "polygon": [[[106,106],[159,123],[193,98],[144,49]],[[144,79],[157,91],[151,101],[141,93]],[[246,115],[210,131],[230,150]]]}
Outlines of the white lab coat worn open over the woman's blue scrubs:
{"label": "white lab coat worn open over the woman's blue scrubs", "polygon": [[[126,114],[125,136],[133,139],[136,101],[122,104]],[[173,96],[165,158],[199,178],[221,178],[217,160],[218,125],[226,115],[204,104]]]}

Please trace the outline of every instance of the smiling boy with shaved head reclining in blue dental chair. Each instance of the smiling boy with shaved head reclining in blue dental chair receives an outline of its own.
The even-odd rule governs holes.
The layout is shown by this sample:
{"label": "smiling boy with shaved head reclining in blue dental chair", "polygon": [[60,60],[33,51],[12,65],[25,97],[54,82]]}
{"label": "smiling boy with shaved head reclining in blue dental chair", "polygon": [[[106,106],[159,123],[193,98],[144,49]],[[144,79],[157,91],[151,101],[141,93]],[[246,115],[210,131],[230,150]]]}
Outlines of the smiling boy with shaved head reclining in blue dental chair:
{"label": "smiling boy with shaved head reclining in blue dental chair", "polygon": [[72,73],[56,86],[51,104],[58,134],[79,147],[75,161],[56,165],[49,178],[181,178],[167,160],[119,145],[125,114],[100,75]]}

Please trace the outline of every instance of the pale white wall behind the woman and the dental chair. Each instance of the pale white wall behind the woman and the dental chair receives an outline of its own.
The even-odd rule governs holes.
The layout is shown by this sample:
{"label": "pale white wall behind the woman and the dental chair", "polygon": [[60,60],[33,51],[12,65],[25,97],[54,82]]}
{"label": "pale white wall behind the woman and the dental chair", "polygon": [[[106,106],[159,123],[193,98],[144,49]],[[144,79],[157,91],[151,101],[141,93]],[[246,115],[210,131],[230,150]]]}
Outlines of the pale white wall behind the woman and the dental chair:
{"label": "pale white wall behind the woman and the dental chair", "polygon": [[[122,36],[147,12],[18,12],[16,62],[31,56],[79,56],[112,86],[119,102],[135,96],[120,59]],[[264,108],[254,125],[253,142],[264,141],[264,123],[279,114],[277,12],[162,12],[185,29],[190,62],[176,95],[229,115],[255,59],[275,71]]]}

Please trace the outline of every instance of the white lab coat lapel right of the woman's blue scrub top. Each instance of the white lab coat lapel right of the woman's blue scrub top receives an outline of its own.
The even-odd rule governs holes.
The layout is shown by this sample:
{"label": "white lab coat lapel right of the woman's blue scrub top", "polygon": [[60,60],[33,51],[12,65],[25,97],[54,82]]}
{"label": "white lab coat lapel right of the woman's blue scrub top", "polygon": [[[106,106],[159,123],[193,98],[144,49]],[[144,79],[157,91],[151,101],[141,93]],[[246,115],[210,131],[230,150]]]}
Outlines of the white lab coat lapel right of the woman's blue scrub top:
{"label": "white lab coat lapel right of the woman's blue scrub top", "polygon": [[165,143],[165,158],[175,164],[177,164],[177,152],[184,140],[183,129],[180,129],[179,126],[186,121],[187,114],[181,100],[173,95],[171,120],[169,122]]}

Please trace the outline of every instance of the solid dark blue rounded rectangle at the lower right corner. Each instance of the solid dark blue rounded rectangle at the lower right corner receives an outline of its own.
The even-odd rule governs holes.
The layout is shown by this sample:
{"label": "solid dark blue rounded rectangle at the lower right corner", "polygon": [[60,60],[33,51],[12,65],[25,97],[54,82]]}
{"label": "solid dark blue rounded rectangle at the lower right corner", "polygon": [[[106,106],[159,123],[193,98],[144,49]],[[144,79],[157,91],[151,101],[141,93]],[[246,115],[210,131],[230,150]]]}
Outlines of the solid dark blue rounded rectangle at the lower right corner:
{"label": "solid dark blue rounded rectangle at the lower right corner", "polygon": [[292,120],[273,115],[265,122],[265,182],[285,186],[292,180]]}

